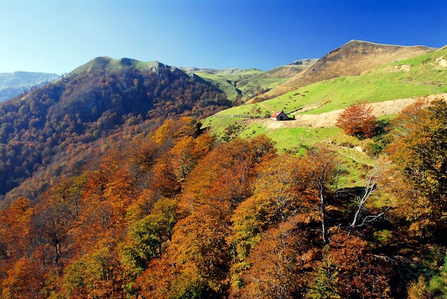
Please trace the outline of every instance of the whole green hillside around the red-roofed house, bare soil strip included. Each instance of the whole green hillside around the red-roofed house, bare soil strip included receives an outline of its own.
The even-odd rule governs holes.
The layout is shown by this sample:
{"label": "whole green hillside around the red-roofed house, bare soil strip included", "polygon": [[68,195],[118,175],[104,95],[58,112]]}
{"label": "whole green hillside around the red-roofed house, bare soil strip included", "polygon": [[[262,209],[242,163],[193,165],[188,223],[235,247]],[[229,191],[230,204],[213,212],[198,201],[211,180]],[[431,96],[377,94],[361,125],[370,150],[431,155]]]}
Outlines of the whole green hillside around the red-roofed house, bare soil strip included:
{"label": "whole green hillside around the red-roofed house, bare soil strip included", "polygon": [[[359,101],[371,103],[376,116],[389,119],[418,99],[428,102],[433,98],[446,98],[446,57],[447,48],[444,47],[392,61],[357,76],[318,81],[260,103],[228,108],[207,118],[204,124],[224,139],[266,134],[277,142],[278,148],[285,150],[298,144],[309,146],[318,140],[339,143],[346,137],[333,126],[338,113]],[[282,122],[268,119],[281,110],[296,119]],[[297,131],[300,134],[297,135]],[[313,131],[318,133],[309,133]]]}

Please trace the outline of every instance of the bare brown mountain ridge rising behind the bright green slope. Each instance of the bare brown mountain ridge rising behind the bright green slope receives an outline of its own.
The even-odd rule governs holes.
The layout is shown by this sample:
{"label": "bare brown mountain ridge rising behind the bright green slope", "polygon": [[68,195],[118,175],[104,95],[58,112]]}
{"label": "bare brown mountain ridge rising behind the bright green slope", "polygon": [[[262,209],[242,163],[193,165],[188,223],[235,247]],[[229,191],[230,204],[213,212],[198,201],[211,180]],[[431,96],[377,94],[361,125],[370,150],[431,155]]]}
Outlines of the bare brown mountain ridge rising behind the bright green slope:
{"label": "bare brown mountain ridge rising behind the bright green slope", "polygon": [[349,41],[330,51],[311,67],[293,76],[280,86],[263,94],[274,98],[300,87],[339,76],[359,75],[376,66],[401,61],[435,51],[427,46],[394,46],[368,41]]}

